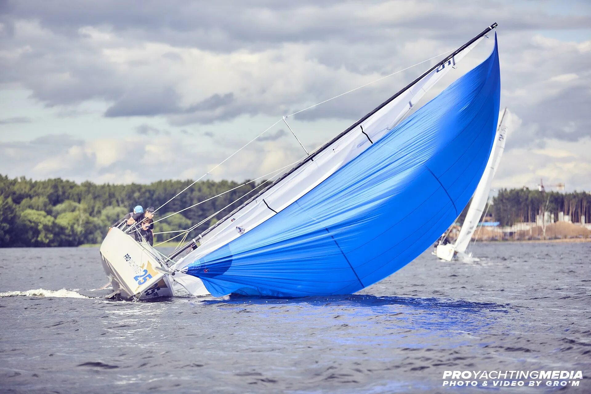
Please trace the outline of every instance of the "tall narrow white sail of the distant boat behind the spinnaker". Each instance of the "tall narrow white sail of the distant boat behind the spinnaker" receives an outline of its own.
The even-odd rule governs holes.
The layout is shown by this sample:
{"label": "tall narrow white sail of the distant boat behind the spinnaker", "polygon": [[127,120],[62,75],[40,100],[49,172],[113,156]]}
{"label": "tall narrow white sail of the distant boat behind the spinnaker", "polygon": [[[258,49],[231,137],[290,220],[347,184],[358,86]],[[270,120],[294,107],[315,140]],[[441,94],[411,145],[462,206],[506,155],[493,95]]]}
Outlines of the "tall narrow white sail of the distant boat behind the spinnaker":
{"label": "tall narrow white sail of the distant boat behind the spinnaker", "polygon": [[476,187],[476,191],[472,197],[472,203],[470,203],[470,207],[466,213],[466,219],[464,220],[460,234],[457,236],[456,242],[454,243],[454,250],[457,252],[466,252],[466,248],[470,243],[470,239],[472,239],[476,226],[478,226],[478,222],[480,222],[480,217],[482,217],[482,214],[484,213],[486,201],[488,201],[488,194],[491,190],[491,183],[495,177],[496,169],[499,167],[499,162],[501,162],[503,151],[505,150],[507,136],[506,115],[507,109],[505,108],[503,115],[501,116],[501,121],[499,121],[499,126],[496,129],[495,142],[492,146],[491,155],[486,163],[484,174],[482,174],[478,187]]}

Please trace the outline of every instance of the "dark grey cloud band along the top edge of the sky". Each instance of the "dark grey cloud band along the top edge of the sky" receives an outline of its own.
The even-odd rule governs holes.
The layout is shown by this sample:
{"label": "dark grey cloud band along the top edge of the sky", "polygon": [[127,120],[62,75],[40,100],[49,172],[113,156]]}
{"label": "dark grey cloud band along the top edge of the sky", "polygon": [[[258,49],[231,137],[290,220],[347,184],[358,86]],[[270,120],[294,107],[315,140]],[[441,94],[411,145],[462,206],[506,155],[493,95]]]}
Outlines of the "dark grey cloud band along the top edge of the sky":
{"label": "dark grey cloud band along the top edge of the sky", "polygon": [[[580,4],[583,8],[584,2]],[[181,0],[136,0],[125,5],[116,0],[13,0],[3,8],[12,18],[38,19],[66,35],[76,35],[80,27],[105,25],[128,37],[217,51],[332,38],[359,43],[419,28],[423,37],[445,32],[463,38],[466,29],[494,21],[511,30],[587,28],[591,22],[589,15],[561,15],[511,1],[455,1],[441,7],[436,0],[219,2],[215,6]]]}

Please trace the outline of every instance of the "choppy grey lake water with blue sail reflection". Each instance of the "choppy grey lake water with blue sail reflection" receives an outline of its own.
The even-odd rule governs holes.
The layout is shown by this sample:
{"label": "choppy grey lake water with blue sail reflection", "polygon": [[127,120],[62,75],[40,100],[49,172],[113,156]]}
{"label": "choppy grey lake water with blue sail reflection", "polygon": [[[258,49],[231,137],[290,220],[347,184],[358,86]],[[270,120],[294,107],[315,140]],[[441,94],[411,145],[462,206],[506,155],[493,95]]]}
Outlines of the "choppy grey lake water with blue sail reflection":
{"label": "choppy grey lake water with blue sail reflection", "polygon": [[0,249],[0,390],[451,392],[444,370],[558,369],[591,392],[591,243],[429,252],[356,295],[148,303],[94,290],[97,249]]}

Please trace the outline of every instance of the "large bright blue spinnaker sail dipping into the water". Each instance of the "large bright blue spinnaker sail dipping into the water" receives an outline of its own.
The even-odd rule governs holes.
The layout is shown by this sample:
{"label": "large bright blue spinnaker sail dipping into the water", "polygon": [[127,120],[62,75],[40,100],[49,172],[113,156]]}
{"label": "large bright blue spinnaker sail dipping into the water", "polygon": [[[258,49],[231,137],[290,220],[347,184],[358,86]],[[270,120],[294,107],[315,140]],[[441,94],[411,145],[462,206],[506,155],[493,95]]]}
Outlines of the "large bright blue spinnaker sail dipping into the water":
{"label": "large bright blue spinnaker sail dipping into the water", "polygon": [[309,193],[190,263],[212,295],[350,294],[413,261],[459,216],[482,177],[499,114],[496,45]]}

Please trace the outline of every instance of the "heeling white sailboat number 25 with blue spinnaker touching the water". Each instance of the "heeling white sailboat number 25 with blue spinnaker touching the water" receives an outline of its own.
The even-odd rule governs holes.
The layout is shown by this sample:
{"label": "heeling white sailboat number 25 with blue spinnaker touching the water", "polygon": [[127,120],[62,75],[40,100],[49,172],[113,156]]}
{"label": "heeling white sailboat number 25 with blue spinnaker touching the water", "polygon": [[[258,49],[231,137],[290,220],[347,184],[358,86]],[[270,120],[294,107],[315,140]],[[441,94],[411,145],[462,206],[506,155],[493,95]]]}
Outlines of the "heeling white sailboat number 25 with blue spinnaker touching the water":
{"label": "heeling white sailboat number 25 with blue spinnaker touching the water", "polygon": [[[306,152],[171,255],[112,229],[100,253],[115,292],[139,299],[177,288],[215,297],[351,294],[413,261],[454,222],[485,171],[499,115],[495,28]],[[493,31],[491,54],[411,113]]]}

